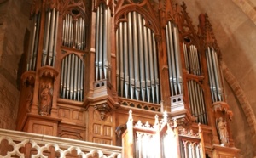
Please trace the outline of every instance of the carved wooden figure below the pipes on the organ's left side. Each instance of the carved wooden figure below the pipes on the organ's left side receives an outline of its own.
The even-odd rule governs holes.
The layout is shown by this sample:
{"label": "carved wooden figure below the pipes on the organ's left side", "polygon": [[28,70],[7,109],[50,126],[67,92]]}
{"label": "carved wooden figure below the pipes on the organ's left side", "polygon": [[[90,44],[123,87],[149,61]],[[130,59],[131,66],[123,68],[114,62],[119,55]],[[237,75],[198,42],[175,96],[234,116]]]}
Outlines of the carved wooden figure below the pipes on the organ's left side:
{"label": "carved wooden figure below the pipes on the organ's left side", "polygon": [[52,104],[52,88],[44,87],[40,93],[40,112],[41,116],[49,116]]}

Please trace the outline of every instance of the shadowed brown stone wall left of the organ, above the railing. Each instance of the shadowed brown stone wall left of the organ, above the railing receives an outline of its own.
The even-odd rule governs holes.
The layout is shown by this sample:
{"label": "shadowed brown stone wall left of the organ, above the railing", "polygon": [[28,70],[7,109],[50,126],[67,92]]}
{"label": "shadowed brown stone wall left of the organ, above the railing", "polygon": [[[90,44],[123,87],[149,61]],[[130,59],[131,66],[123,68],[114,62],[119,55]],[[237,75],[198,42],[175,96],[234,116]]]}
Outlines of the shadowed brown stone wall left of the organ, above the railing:
{"label": "shadowed brown stone wall left of the organ, above the railing", "polygon": [[28,0],[0,1],[0,128],[15,129],[20,95],[18,71],[30,6]]}

